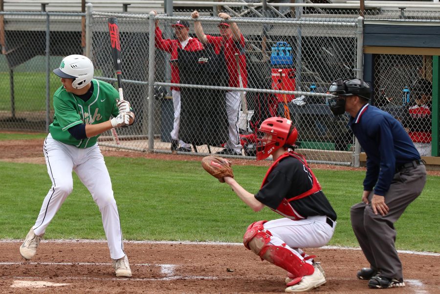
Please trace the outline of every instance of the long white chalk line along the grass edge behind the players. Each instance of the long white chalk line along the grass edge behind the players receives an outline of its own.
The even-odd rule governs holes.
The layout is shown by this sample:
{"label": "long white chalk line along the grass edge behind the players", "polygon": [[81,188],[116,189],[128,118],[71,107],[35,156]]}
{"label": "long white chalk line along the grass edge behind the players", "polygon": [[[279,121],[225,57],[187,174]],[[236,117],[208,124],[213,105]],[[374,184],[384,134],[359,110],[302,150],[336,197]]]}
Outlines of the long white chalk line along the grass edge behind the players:
{"label": "long white chalk line along the grass edge behind the players", "polygon": [[[0,243],[23,242],[23,240],[15,239],[0,239]],[[90,239],[59,239],[59,240],[43,240],[44,243],[107,243],[107,240],[90,240]],[[130,244],[172,244],[172,245],[220,245],[220,246],[243,246],[243,243],[227,243],[227,242],[194,242],[194,241],[126,241],[124,243]],[[319,249],[337,249],[337,250],[360,250],[359,247],[343,247],[343,246],[323,246]],[[426,256],[440,256],[440,253],[426,252],[426,251],[412,251],[412,250],[397,250],[398,253],[426,255]]]}

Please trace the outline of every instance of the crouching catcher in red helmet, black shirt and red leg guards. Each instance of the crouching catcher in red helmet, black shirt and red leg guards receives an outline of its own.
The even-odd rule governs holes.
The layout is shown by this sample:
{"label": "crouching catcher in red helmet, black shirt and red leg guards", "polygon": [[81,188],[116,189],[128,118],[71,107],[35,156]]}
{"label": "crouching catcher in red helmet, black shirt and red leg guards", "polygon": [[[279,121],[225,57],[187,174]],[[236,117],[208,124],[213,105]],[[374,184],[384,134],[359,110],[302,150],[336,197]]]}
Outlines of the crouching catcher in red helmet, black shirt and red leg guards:
{"label": "crouching catcher in red helmet, black shirt and red leg guards", "polygon": [[294,149],[298,136],[292,121],[271,117],[258,131],[257,160],[272,155],[274,161],[260,190],[254,195],[232,177],[222,180],[254,211],[266,205],[284,218],[249,225],[244,246],[288,272],[286,292],[312,290],[326,282],[325,273],[315,256],[300,248],[326,245],[333,236],[336,213],[306,159],[288,150]]}

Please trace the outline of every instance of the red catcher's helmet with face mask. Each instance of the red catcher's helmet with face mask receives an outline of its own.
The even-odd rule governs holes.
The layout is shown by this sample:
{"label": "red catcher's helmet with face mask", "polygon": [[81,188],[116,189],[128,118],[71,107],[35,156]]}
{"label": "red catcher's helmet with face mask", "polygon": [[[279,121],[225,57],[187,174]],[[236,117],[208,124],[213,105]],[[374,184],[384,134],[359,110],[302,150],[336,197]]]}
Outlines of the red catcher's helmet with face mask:
{"label": "red catcher's helmet with face mask", "polygon": [[284,146],[293,146],[298,131],[291,120],[270,117],[261,123],[257,138],[257,160],[268,158],[274,151]]}

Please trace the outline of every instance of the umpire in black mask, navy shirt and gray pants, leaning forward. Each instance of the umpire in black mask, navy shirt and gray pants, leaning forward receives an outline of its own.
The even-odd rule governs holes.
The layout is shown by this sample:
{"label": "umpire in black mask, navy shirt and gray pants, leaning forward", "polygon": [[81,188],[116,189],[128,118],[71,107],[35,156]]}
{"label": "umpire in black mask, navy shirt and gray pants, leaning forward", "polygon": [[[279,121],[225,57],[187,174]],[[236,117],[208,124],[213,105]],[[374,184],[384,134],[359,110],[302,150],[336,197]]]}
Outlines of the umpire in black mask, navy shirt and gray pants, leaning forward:
{"label": "umpire in black mask, navy shirt and gray pants, leaning forward", "polygon": [[424,162],[400,122],[368,104],[372,89],[367,83],[339,79],[329,92],[331,112],[350,113],[349,125],[367,154],[362,202],[350,210],[354,234],[370,263],[357,277],[369,280],[373,289],[404,287],[394,223],[423,190]]}

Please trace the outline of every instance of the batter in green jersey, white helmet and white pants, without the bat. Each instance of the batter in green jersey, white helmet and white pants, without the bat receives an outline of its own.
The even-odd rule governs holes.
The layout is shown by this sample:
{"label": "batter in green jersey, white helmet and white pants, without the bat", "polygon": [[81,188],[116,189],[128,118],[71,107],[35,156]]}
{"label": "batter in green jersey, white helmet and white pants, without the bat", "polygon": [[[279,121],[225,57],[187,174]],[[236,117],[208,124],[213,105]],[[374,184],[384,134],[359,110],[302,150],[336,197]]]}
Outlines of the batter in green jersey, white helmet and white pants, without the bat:
{"label": "batter in green jersey, white helmet and white pants, without the bat", "polygon": [[72,192],[75,171],[101,212],[116,276],[131,277],[110,175],[96,142],[111,128],[133,123],[131,105],[126,100],[118,101],[119,94],[113,86],[93,79],[93,64],[86,56],[69,55],[53,72],[63,85],[53,95],[55,115],[44,140],[44,158],[52,187],[20,253],[27,260],[37,253],[46,227]]}

